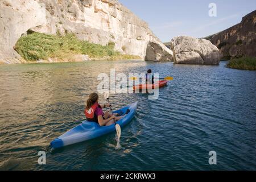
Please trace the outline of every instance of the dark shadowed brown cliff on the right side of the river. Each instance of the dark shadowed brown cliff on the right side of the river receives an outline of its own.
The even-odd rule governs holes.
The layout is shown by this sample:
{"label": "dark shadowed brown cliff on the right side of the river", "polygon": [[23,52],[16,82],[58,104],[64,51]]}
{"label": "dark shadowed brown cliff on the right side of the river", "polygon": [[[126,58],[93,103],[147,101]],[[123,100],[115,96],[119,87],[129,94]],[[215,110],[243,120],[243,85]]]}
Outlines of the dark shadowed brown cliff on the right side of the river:
{"label": "dark shadowed brown cliff on the right side of the river", "polygon": [[242,22],[207,39],[216,45],[226,59],[256,57],[256,10],[242,18]]}

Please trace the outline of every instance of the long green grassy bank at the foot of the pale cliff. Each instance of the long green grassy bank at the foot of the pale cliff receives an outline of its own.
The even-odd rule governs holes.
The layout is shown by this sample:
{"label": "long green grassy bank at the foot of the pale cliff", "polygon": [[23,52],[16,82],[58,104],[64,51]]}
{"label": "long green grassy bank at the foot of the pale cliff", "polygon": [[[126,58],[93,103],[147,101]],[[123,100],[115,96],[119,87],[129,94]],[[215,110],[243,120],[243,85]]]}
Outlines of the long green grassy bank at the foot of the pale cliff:
{"label": "long green grassy bank at the foot of the pale cliff", "polygon": [[139,56],[122,55],[120,52],[114,51],[114,43],[101,46],[81,41],[74,34],[60,36],[33,32],[18,40],[15,51],[28,61],[47,60],[48,58],[72,60],[75,55],[88,55],[94,60],[105,57],[107,60],[141,59]]}

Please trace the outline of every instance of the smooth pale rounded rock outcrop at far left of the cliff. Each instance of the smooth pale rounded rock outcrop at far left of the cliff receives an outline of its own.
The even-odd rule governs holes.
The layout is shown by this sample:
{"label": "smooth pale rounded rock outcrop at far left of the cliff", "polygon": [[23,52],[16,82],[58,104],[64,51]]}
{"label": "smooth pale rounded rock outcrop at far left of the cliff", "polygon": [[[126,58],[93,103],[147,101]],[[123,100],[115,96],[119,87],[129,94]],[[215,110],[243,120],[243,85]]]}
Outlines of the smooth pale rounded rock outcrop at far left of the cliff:
{"label": "smooth pale rounded rock outcrop at far left of the cliff", "polygon": [[45,23],[46,11],[38,2],[0,1],[0,62],[26,62],[13,47],[29,28]]}

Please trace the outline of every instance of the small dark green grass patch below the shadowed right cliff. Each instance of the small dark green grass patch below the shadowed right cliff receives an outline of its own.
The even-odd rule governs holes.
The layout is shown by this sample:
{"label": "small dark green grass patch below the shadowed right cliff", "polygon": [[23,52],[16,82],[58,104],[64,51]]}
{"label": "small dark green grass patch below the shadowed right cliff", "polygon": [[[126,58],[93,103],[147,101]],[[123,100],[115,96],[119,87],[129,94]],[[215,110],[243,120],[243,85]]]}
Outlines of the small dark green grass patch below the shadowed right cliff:
{"label": "small dark green grass patch below the shadowed right cliff", "polygon": [[256,70],[256,57],[232,59],[226,66],[234,69]]}

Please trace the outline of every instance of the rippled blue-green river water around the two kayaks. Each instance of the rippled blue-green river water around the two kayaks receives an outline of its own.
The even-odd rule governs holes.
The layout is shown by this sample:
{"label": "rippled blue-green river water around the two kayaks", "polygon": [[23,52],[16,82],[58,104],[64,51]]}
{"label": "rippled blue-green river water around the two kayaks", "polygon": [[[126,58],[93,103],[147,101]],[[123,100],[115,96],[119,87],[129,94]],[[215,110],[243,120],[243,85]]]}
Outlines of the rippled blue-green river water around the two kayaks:
{"label": "rippled blue-green river water around the two kayaks", "polygon": [[[256,72],[220,65],[144,61],[0,66],[0,169],[4,170],[256,170]],[[49,143],[84,119],[101,72],[172,76],[147,94],[112,94],[114,109],[139,101],[135,118],[115,134],[51,150]],[[100,96],[103,103],[104,98]],[[46,151],[46,165],[38,152]],[[217,165],[209,165],[216,151]]]}

